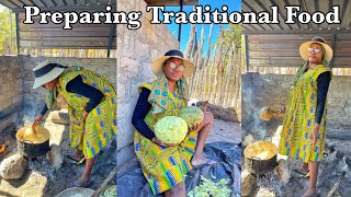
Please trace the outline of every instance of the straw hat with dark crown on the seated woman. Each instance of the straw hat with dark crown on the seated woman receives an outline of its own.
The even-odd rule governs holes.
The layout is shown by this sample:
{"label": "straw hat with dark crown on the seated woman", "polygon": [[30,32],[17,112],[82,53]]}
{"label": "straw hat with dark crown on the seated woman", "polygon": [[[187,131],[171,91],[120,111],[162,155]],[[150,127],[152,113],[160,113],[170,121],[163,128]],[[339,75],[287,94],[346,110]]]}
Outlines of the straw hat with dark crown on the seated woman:
{"label": "straw hat with dark crown on the seated woman", "polygon": [[156,59],[151,65],[151,70],[155,73],[155,76],[159,76],[162,72],[163,62],[169,58],[179,58],[182,59],[184,62],[185,69],[183,70],[183,77],[189,77],[194,70],[195,66],[184,58],[183,54],[179,50],[169,50],[165,54],[165,56]]}

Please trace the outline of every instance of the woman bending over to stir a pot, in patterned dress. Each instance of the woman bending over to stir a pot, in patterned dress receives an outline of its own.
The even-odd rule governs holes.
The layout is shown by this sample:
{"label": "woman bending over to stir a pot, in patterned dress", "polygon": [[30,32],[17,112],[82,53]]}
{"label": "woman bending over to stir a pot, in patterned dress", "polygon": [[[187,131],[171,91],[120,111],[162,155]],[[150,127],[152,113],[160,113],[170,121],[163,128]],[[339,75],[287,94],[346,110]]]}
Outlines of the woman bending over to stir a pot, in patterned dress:
{"label": "woman bending over to stir a pot, in patterned dress", "polygon": [[60,94],[68,104],[69,139],[75,153],[67,157],[86,161],[81,176],[70,186],[89,187],[95,157],[116,135],[116,91],[109,80],[81,67],[65,67],[44,61],[33,69],[33,89],[46,89],[45,105],[34,120],[37,125],[48,109],[53,109]]}

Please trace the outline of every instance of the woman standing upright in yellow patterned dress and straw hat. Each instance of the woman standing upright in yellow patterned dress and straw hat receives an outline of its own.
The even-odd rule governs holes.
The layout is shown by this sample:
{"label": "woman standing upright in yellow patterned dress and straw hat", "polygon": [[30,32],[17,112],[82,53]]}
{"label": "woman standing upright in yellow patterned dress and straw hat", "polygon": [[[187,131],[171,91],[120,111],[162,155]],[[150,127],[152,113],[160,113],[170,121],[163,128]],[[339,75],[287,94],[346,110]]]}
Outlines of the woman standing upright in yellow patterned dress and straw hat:
{"label": "woman standing upright in yellow patterned dress and straw hat", "polygon": [[301,45],[305,62],[298,69],[288,95],[288,103],[279,144],[279,152],[303,160],[296,171],[309,174],[304,197],[317,196],[318,162],[322,159],[327,134],[327,93],[332,78],[328,63],[332,49],[325,39],[315,37]]}

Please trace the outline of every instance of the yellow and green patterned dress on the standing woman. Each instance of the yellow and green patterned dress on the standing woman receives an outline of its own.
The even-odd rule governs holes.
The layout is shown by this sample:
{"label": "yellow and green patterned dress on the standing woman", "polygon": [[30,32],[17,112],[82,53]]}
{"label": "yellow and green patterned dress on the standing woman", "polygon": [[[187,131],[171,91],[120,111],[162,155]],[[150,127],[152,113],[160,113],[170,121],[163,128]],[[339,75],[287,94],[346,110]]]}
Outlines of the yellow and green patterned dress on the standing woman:
{"label": "yellow and green patterned dress on the standing woman", "polygon": [[305,70],[306,66],[303,66],[297,71],[295,82],[290,91],[279,152],[283,155],[297,157],[307,163],[309,161],[318,162],[322,159],[327,134],[326,101],[317,141],[315,147],[312,147],[309,137],[316,119],[317,78],[327,71],[332,73],[324,65],[318,65],[308,71]]}

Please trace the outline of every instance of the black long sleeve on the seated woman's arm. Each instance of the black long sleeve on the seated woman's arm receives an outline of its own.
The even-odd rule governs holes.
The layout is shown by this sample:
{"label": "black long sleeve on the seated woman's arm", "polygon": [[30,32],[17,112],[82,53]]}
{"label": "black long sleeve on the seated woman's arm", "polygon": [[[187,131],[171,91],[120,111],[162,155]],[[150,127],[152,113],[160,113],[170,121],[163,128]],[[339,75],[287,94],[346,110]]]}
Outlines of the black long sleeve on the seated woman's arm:
{"label": "black long sleeve on the seated woman's arm", "polygon": [[150,90],[141,89],[139,99],[133,112],[132,124],[133,126],[146,138],[152,140],[155,137],[154,131],[146,125],[144,118],[147,113],[152,108],[152,105],[147,101],[150,95]]}

